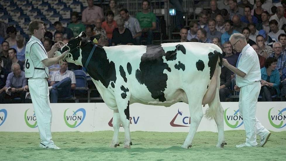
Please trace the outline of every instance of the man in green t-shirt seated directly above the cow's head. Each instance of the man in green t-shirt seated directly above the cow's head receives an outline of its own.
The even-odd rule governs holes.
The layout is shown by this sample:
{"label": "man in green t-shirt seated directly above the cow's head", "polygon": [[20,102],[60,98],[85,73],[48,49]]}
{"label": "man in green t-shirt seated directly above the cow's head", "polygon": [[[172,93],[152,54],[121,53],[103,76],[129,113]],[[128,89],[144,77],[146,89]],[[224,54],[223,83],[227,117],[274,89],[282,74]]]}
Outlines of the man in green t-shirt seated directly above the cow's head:
{"label": "man in green t-shirt seated directly above the cow's head", "polygon": [[78,20],[77,12],[72,12],[71,20],[72,23],[68,24],[68,28],[73,31],[73,36],[77,37],[80,32],[85,30],[85,25]]}

